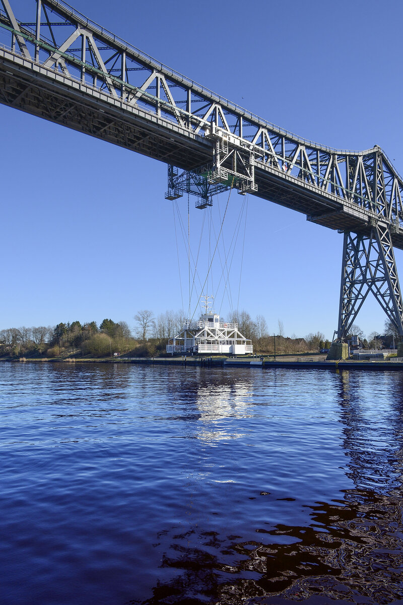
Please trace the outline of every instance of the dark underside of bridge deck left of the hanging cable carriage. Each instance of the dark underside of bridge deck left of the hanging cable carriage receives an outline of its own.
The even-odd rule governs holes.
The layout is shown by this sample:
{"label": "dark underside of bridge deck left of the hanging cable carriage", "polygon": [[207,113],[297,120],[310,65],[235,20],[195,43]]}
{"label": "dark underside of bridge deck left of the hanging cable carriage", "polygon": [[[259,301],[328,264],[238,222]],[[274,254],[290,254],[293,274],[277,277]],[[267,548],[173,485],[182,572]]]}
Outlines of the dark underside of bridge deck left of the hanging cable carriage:
{"label": "dark underside of bridge deck left of the hanging cable carriage", "polygon": [[[120,145],[166,163],[179,162],[186,169],[196,168],[211,157],[210,145],[184,145],[178,133],[161,128],[155,116],[143,118],[85,93],[33,77],[0,62],[0,102]],[[201,137],[198,137],[201,138]],[[203,149],[205,147],[205,151]]]}

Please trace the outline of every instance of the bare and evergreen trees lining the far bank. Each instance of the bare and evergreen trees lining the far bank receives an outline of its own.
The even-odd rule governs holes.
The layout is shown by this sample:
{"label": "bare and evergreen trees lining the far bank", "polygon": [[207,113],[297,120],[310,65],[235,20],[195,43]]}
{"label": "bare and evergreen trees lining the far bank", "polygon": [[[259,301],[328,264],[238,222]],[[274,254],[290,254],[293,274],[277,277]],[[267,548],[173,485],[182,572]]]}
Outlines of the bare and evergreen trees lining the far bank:
{"label": "bare and evergreen trees lining the far bank", "polygon": [[[102,357],[114,353],[132,353],[132,356],[151,356],[165,351],[166,344],[178,334],[187,316],[182,310],[167,310],[154,316],[149,309],[139,310],[133,317],[134,325],[129,327],[126,321],[115,322],[103,319],[97,322],[80,321],[60,322],[53,326],[34,326],[8,328],[0,330],[0,355],[21,356],[37,355],[50,358],[60,355]],[[281,319],[274,329],[269,330],[263,315],[252,318],[246,310],[228,313],[227,321],[237,323],[245,338],[251,339],[254,352],[297,354],[317,352],[329,348],[330,342],[322,332],[309,333],[305,338],[295,335],[285,336]],[[358,325],[350,329],[350,336],[359,336],[364,348],[376,348],[382,343],[389,347],[400,339],[398,331],[390,321],[385,322],[384,334],[370,333],[366,338]]]}

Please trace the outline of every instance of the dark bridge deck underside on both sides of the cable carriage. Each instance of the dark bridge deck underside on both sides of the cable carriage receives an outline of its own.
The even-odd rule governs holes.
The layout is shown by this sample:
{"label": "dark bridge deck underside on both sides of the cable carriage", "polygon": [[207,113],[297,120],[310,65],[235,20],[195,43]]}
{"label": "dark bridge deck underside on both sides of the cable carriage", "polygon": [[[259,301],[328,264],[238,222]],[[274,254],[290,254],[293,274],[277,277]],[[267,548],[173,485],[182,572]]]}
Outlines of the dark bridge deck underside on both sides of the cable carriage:
{"label": "dark bridge deck underside on both sides of the cable carriage", "polygon": [[[89,134],[131,151],[184,170],[194,170],[211,162],[212,143],[203,136],[170,123],[134,106],[127,111],[122,103],[105,95],[81,90],[79,83],[50,80],[32,64],[24,66],[0,56],[0,102],[34,116]],[[60,80],[60,78],[59,78]],[[257,196],[302,212],[317,224],[344,231],[369,234],[366,212],[335,196],[308,188],[295,177],[257,163]],[[403,249],[403,229],[392,235],[393,244]]]}

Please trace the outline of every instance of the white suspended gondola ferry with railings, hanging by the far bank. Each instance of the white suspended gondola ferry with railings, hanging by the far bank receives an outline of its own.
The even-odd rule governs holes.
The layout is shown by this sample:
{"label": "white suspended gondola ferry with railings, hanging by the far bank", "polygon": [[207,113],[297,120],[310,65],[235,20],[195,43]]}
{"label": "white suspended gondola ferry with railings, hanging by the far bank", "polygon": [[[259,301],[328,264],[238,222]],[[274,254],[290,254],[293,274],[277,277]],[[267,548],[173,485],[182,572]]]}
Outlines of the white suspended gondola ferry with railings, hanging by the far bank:
{"label": "white suspended gondola ferry with railings, hanging by the far bank", "polygon": [[204,313],[200,321],[187,322],[181,332],[170,339],[167,353],[253,353],[252,342],[245,338],[238,324],[221,322],[214,312]]}

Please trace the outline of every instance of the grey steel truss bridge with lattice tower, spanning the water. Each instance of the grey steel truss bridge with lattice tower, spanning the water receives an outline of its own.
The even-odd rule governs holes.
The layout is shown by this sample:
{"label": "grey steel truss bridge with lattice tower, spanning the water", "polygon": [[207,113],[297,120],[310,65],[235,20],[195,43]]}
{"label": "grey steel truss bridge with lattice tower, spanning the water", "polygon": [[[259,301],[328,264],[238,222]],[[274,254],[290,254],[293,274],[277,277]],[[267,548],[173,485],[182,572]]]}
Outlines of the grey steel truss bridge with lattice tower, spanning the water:
{"label": "grey steel truss bridge with lattice tower, spanning the water", "polygon": [[205,208],[236,188],[343,232],[338,341],[369,292],[403,336],[393,253],[403,249],[403,181],[381,148],[340,151],[301,139],[63,0],[32,0],[24,20],[11,4],[1,0],[1,103],[167,163],[167,199],[189,192]]}

